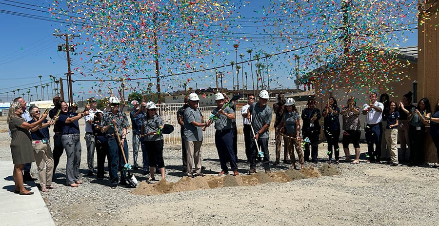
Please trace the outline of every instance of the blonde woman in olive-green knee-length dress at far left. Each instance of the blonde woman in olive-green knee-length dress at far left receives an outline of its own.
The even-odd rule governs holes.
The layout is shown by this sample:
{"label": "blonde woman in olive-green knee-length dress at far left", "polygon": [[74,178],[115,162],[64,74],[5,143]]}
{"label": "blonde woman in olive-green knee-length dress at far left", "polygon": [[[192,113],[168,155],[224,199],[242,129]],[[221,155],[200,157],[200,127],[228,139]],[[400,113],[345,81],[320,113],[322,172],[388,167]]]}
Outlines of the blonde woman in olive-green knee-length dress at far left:
{"label": "blonde woman in olive-green knee-length dress at far left", "polygon": [[28,191],[26,188],[24,188],[23,184],[24,164],[35,161],[34,153],[32,153],[32,139],[29,129],[40,125],[40,123],[46,119],[47,114],[43,114],[35,123],[29,124],[24,122],[24,119],[21,118],[21,113],[23,113],[23,109],[21,107],[21,103],[19,102],[12,103],[9,107],[8,117],[6,119],[6,122],[9,125],[9,130],[11,130],[12,137],[11,153],[12,162],[14,163],[14,193],[20,195],[32,195],[34,192]]}

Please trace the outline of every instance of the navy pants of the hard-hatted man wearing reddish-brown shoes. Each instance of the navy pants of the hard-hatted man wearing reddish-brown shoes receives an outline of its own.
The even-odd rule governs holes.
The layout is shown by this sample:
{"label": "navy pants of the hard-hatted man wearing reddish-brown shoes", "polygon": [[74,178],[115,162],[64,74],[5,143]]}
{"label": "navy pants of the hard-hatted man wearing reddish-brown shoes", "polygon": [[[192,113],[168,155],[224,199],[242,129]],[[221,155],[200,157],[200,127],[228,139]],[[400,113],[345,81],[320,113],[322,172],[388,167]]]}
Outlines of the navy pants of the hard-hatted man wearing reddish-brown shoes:
{"label": "navy pants of the hard-hatted man wearing reddish-brown shoes", "polygon": [[233,149],[233,132],[231,129],[215,131],[215,145],[217,146],[218,156],[220,157],[221,169],[228,172],[227,162],[230,162],[232,170],[238,170]]}

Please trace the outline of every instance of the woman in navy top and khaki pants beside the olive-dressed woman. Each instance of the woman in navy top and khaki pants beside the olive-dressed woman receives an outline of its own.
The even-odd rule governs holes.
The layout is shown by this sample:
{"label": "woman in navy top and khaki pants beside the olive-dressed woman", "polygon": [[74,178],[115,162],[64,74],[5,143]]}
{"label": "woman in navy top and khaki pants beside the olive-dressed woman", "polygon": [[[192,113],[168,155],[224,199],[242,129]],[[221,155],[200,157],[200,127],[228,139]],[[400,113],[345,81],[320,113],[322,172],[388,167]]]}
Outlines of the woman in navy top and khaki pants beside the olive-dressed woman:
{"label": "woman in navy top and khaki pants beside the olive-dressed woman", "polygon": [[[32,120],[27,123],[32,124],[40,119],[41,111],[37,106],[29,107],[29,113],[32,117]],[[44,119],[39,126],[30,129],[35,163],[37,164],[38,174],[40,177],[41,191],[44,192],[54,188],[52,185],[53,154],[49,142],[50,135],[48,128],[54,124],[55,122],[53,120],[47,121],[47,119]]]}

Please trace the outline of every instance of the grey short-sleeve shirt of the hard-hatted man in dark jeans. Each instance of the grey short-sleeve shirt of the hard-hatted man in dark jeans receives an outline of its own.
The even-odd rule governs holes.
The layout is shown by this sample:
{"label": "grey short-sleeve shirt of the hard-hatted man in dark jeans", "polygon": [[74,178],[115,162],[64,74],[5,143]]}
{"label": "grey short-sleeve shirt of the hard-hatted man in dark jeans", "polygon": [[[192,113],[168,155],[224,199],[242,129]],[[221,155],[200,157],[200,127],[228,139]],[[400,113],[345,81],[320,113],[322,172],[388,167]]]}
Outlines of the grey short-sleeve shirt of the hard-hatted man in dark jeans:
{"label": "grey short-sleeve shirt of the hard-hatted man in dark jeans", "polygon": [[[255,133],[259,132],[259,130],[265,124],[270,125],[272,112],[271,108],[265,104],[263,107],[259,107],[259,102],[253,103],[249,107],[250,114],[252,114],[252,126],[255,130]],[[269,138],[270,132],[267,128],[262,134],[259,135],[259,138]]]}

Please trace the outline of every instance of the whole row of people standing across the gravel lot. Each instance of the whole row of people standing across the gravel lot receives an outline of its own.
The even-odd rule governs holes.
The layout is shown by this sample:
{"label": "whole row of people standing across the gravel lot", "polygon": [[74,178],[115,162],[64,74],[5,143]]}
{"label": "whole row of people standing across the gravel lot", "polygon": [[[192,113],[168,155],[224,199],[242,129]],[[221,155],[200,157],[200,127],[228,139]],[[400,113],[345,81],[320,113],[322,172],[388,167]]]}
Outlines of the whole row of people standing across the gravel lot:
{"label": "whole row of people standing across the gravel lot", "polygon": [[[272,109],[267,105],[269,93],[259,92],[258,101],[253,95],[247,98],[247,104],[240,109],[243,123],[246,162],[249,164],[248,173],[256,173],[261,164],[266,173],[270,172],[269,128],[272,120]],[[184,98],[184,105],[177,111],[180,124],[182,170],[189,177],[204,176],[202,173],[201,146],[203,131],[214,124],[215,145],[220,159],[219,175],[233,175],[238,172],[238,132],[236,125],[236,103],[224,93],[215,95],[217,107],[208,120],[198,107],[200,98],[196,93],[190,93]],[[359,164],[361,122],[359,115],[365,115],[365,137],[367,141],[367,162],[377,163],[388,161],[392,166],[399,164],[420,164],[424,162],[425,126],[430,125],[430,135],[436,148],[439,148],[439,100],[431,110],[429,100],[423,98],[414,106],[412,93],[402,97],[401,101],[390,100],[387,94],[382,94],[378,100],[377,93],[370,93],[369,103],[357,106],[354,98],[349,98],[346,105],[337,103],[336,98],[329,97],[326,105],[320,110],[316,101],[309,99],[306,108],[299,111],[293,98],[285,100],[279,94],[277,103],[273,105],[275,113],[276,160],[273,165],[280,163],[281,141],[284,142],[283,162],[296,165],[295,151],[298,155],[300,168],[304,162],[318,162],[319,136],[323,131],[327,141],[327,154],[330,163],[340,162],[339,137],[341,129],[342,147],[346,156],[345,161]],[[27,109],[24,98],[19,97],[11,104],[8,112],[11,152],[14,163],[15,193],[22,195],[33,194],[25,189],[23,181],[35,180],[30,175],[30,165],[36,162],[41,191],[47,192],[54,188],[52,180],[60,157],[65,150],[66,185],[78,187],[80,180],[80,126],[79,120],[85,121],[85,143],[87,146],[88,176],[93,176],[94,153],[97,153],[97,179],[104,179],[104,163],[108,162],[110,186],[129,186],[126,182],[124,169],[128,161],[127,133],[130,123],[123,112],[123,105],[117,97],[111,97],[103,111],[97,109],[97,101],[89,99],[89,103],[81,113],[76,113],[60,97],[55,97],[55,108],[41,112],[37,106]],[[367,101],[366,101],[367,102]],[[143,175],[150,175],[147,182],[157,181],[155,174],[165,178],[165,163],[163,161],[163,135],[160,129],[164,123],[157,112],[155,103],[133,101],[130,112],[132,126],[132,168],[143,169]],[[340,128],[339,115],[342,127]],[[51,120],[47,120],[47,116]],[[322,122],[322,126],[320,126]],[[53,150],[50,145],[49,127],[53,127]],[[400,143],[398,153],[397,142]],[[353,144],[355,159],[351,160],[349,144]],[[142,150],[142,163],[138,163],[139,148]],[[310,149],[311,148],[311,149]],[[333,159],[333,156],[335,159]],[[439,156],[439,152],[438,152]],[[288,157],[290,160],[288,160]],[[230,168],[229,168],[230,166]],[[436,164],[439,166],[439,164]],[[119,171],[119,174],[118,174]],[[24,172],[24,174],[23,174]]]}

